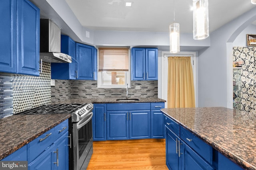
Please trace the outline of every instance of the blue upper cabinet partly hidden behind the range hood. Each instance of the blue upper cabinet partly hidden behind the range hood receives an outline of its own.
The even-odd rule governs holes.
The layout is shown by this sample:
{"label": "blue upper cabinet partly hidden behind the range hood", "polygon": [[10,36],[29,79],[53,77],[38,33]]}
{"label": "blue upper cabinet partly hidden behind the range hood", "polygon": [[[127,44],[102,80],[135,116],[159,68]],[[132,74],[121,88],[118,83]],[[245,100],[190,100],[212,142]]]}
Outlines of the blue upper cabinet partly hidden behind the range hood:
{"label": "blue upper cabinet partly hidden behind the range hood", "polygon": [[75,80],[76,79],[76,43],[67,35],[61,35],[62,53],[72,57],[72,63],[51,63],[52,79]]}

